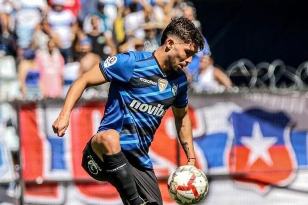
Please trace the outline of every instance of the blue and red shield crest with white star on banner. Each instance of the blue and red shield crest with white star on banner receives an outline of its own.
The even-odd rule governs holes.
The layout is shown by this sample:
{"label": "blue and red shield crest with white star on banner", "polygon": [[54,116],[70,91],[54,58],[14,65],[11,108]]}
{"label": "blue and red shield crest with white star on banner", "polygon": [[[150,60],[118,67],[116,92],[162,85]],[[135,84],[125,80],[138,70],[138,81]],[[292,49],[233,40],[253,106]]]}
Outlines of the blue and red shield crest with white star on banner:
{"label": "blue and red shield crest with white star on banner", "polygon": [[[231,121],[234,130],[231,153],[234,155],[230,155],[230,171],[245,173],[234,180],[261,193],[269,191],[272,184],[290,184],[295,176],[296,159],[291,151],[288,116],[282,112],[250,109],[233,112]],[[268,171],[270,174],[266,174]]]}

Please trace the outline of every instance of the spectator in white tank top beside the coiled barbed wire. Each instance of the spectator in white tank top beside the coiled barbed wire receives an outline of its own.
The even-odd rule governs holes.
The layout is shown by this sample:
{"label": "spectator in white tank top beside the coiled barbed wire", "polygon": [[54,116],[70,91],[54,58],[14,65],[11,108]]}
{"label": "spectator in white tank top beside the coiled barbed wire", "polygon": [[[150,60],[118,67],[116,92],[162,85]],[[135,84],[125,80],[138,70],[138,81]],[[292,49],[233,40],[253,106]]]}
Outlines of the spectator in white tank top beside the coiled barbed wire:
{"label": "spectator in white tank top beside the coiled barbed wire", "polygon": [[[204,55],[201,57],[199,72],[195,75],[196,91],[220,92],[224,87],[230,89],[232,82],[221,69],[214,67],[212,56]],[[223,86],[223,87],[221,87]]]}

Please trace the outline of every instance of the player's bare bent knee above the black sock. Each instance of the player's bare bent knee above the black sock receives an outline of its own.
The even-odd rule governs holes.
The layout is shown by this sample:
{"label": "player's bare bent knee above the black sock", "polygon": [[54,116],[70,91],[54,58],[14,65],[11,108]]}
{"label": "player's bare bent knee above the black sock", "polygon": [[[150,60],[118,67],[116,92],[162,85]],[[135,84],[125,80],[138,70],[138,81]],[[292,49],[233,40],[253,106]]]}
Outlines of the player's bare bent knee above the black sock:
{"label": "player's bare bent knee above the black sock", "polygon": [[113,129],[99,132],[92,139],[93,145],[98,146],[103,154],[115,154],[121,151],[120,135]]}

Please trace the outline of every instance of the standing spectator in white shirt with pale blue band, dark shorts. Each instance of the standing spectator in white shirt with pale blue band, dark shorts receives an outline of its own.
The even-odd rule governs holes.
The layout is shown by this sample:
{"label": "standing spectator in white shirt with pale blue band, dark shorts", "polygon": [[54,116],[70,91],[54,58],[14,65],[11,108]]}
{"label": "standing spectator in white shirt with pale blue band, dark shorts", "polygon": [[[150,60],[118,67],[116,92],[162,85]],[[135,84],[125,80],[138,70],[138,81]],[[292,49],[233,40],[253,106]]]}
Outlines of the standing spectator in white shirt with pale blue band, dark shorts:
{"label": "standing spectator in white shirt with pale blue band, dark shorts", "polygon": [[53,0],[53,9],[47,16],[51,28],[55,31],[61,40],[61,47],[59,48],[65,63],[71,62],[73,59],[72,41],[73,41],[73,27],[76,25],[76,18],[71,10],[64,10],[64,0]]}

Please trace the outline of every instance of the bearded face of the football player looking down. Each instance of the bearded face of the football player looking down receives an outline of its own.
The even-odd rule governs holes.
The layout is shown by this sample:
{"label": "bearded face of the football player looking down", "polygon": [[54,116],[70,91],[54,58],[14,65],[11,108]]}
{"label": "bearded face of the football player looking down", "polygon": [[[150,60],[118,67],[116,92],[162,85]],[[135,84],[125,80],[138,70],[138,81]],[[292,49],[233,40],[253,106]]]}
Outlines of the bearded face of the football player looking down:
{"label": "bearded face of the football player looking down", "polygon": [[174,44],[168,52],[168,66],[172,71],[183,69],[191,63],[193,55],[197,53],[194,43],[184,43],[174,40]]}

